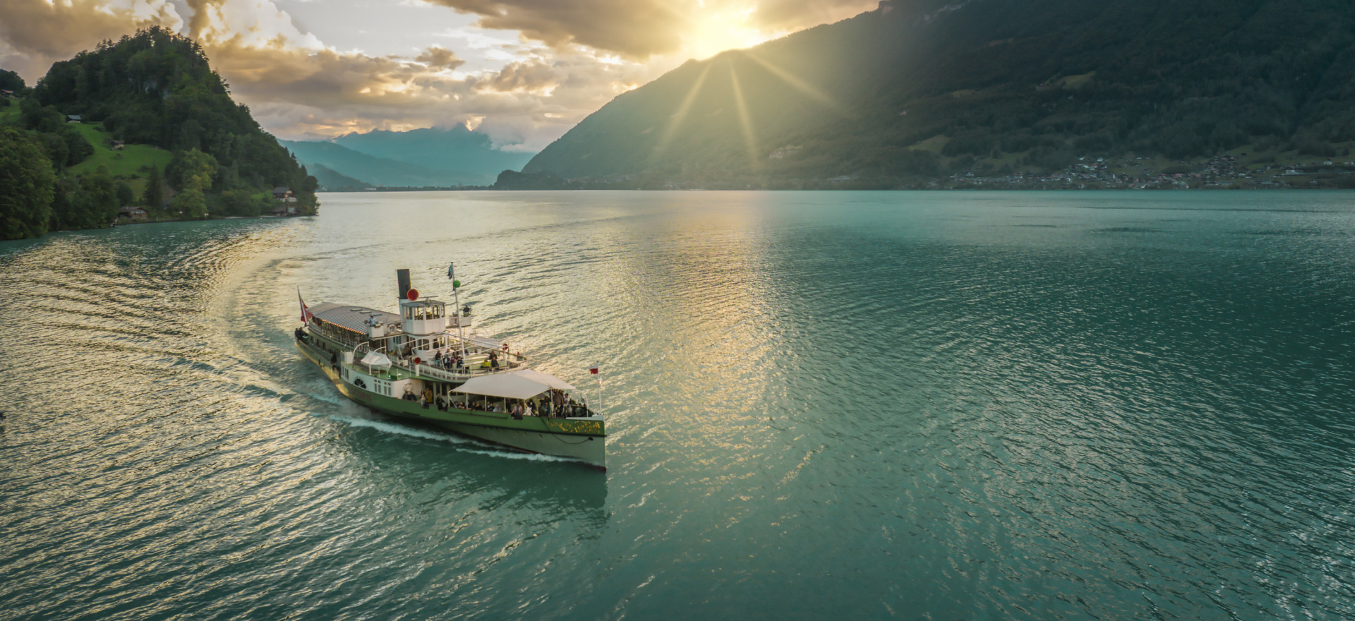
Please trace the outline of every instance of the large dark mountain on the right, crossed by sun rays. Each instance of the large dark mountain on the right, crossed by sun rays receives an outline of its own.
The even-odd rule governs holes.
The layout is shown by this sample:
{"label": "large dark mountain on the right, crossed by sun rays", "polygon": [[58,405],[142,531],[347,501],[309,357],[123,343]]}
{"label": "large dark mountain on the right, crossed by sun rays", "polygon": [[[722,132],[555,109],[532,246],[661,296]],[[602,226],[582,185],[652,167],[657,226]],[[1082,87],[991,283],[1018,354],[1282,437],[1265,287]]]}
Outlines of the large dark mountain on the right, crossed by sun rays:
{"label": "large dark mountain on the right, crossed by sun rays", "polygon": [[688,61],[615,98],[523,174],[900,187],[1079,157],[1234,149],[1282,161],[1352,144],[1347,0],[889,0]]}

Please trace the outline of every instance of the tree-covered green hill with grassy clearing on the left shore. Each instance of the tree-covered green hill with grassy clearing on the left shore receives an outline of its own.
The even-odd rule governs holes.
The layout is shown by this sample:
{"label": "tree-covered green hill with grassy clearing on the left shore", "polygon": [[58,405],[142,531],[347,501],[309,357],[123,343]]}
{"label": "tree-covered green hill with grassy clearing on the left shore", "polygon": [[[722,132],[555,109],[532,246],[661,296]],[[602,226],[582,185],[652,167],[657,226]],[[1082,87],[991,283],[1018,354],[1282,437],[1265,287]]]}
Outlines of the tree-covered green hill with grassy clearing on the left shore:
{"label": "tree-covered green hill with grassy clearing on the left shore", "polygon": [[[56,62],[0,106],[0,153],[24,167],[7,172],[33,187],[0,205],[0,239],[108,226],[131,205],[154,220],[259,216],[278,186],[301,214],[318,205],[316,179],[230,99],[202,47],[161,27]],[[50,191],[34,186],[49,176]]]}

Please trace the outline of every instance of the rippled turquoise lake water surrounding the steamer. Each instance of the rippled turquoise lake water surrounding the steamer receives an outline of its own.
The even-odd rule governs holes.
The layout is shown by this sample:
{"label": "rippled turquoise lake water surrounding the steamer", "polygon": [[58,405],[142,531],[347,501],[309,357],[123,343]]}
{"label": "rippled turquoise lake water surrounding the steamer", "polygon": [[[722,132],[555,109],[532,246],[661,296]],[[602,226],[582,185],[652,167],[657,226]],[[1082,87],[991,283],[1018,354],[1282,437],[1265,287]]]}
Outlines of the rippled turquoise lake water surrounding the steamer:
{"label": "rippled turquoise lake water surrounding the steamer", "polygon": [[[1355,195],[427,193],[0,243],[0,617],[1355,616]],[[291,347],[394,270],[608,470]]]}

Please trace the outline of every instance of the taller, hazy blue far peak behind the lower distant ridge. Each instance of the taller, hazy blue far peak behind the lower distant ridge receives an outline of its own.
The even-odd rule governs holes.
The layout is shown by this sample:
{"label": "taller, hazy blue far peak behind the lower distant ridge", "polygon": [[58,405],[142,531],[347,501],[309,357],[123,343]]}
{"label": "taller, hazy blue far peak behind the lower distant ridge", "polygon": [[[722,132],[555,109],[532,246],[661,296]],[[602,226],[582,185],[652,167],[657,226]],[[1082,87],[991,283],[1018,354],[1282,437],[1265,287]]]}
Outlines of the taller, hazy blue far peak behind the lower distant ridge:
{"label": "taller, hazy blue far peak behind the lower distant ridge", "polygon": [[499,151],[488,136],[463,125],[450,129],[352,133],[332,142],[375,157],[451,171],[467,178],[478,175],[473,183],[491,183],[501,171],[522,168],[534,155]]}

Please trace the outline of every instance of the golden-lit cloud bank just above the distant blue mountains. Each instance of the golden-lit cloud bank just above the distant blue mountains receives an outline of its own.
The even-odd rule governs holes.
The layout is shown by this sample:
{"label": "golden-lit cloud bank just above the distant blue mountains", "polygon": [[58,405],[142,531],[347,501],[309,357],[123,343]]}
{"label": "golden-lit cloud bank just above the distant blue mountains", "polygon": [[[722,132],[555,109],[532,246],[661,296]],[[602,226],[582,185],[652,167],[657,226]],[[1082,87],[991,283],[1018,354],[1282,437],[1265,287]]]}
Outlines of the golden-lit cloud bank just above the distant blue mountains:
{"label": "golden-lit cloud bank just above the distant blue mountains", "polygon": [[657,77],[652,68],[581,52],[457,77],[428,64],[428,52],[402,60],[290,49],[280,41],[205,47],[233,95],[285,138],[473,122],[499,145],[539,151],[614,96]]}

